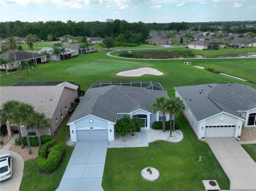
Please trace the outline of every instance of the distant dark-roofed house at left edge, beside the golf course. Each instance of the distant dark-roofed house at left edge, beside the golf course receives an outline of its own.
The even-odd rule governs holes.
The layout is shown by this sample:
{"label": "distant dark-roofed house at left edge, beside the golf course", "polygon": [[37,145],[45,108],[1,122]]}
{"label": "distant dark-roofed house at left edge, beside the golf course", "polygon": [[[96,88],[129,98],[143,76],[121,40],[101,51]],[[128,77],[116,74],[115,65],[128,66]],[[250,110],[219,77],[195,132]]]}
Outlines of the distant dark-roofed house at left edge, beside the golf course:
{"label": "distant dark-roofed house at left edge, beside the golf course", "polygon": [[[34,53],[34,60],[33,60],[33,54],[31,52],[27,51],[15,51],[16,59],[14,59],[13,52],[7,52],[4,54],[0,54],[0,58],[9,59],[11,62],[6,64],[7,70],[12,70],[17,68],[17,65],[21,64],[22,60],[28,60],[31,62],[34,62],[36,64],[41,64],[43,62],[46,62],[46,55]],[[4,65],[0,66],[0,69],[4,69]]]}

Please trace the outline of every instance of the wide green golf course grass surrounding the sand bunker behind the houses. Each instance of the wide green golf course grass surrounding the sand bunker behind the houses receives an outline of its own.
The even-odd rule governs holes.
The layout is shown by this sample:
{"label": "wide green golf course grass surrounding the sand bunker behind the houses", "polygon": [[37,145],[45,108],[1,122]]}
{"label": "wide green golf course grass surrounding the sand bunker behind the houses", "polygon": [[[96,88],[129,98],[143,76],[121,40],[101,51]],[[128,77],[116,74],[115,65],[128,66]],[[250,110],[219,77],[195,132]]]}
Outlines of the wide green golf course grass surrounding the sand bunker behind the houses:
{"label": "wide green golf course grass surrounding the sand bunker behind the houses", "polygon": [[[55,62],[50,61],[46,64],[38,64],[37,72],[29,70],[29,77],[26,71],[20,72],[21,76],[17,77],[16,72],[10,72],[9,75],[1,77],[1,85],[7,86],[17,81],[74,81],[81,84],[82,89],[87,89],[93,82],[98,81],[131,81],[131,80],[151,80],[161,82],[162,86],[168,92],[174,92],[173,87],[207,84],[214,82],[237,82],[245,85],[256,87],[236,80],[234,78],[214,74],[209,71],[197,69],[195,67],[183,64],[183,60],[127,60],[116,59],[106,55],[107,51],[99,51],[89,55],[79,55],[73,59]],[[223,64],[226,70],[230,69],[236,72],[234,76],[246,77],[251,81],[256,81],[256,59],[203,59],[191,60],[194,65],[211,64],[218,69]],[[188,60],[189,61],[189,60]],[[248,64],[249,63],[249,64]],[[239,68],[237,68],[239,66]],[[116,76],[117,72],[140,67],[156,68],[164,72],[163,76],[143,75],[141,77],[120,77]],[[226,72],[226,71],[223,71]],[[229,73],[229,72],[226,72]]]}

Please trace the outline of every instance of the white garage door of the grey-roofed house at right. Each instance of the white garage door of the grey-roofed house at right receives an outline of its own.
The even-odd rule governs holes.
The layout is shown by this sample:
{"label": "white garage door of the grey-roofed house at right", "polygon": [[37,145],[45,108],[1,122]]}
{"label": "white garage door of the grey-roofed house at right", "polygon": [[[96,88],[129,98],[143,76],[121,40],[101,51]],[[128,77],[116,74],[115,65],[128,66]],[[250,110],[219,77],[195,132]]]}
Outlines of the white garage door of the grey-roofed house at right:
{"label": "white garage door of the grey-roofed house at right", "polygon": [[234,137],[236,126],[205,126],[205,137]]}

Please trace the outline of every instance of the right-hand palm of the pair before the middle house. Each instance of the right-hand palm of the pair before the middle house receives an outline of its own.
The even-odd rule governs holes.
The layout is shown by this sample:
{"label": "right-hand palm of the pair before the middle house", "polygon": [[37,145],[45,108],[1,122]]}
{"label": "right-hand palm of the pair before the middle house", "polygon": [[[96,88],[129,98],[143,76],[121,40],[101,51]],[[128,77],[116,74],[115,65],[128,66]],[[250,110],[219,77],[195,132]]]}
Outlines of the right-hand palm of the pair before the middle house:
{"label": "right-hand palm of the pair before the middle house", "polygon": [[175,118],[172,120],[173,115],[178,116],[180,113],[185,110],[185,105],[183,101],[179,97],[172,97],[169,99],[166,99],[164,104],[165,110],[170,115],[170,137],[172,136],[172,131],[174,131],[175,128]]}

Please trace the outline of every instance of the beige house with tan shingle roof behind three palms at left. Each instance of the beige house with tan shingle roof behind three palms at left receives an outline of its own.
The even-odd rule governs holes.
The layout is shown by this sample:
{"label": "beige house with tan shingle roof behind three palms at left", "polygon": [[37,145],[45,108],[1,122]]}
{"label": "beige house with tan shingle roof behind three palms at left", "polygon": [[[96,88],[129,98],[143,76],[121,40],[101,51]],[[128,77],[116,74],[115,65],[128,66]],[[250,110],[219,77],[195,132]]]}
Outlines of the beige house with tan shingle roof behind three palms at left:
{"label": "beige house with tan shingle roof behind three palms at left", "polygon": [[[32,105],[36,112],[44,113],[46,118],[51,120],[51,128],[42,130],[41,135],[53,135],[62,121],[65,120],[71,103],[77,98],[77,88],[77,85],[69,82],[48,86],[1,86],[0,107],[2,107],[5,102],[12,100]],[[16,124],[6,122],[6,126],[9,136],[12,136],[13,131],[17,130]],[[21,135],[26,136],[26,128],[22,125]],[[28,129],[28,135],[36,136],[36,130],[34,128]]]}

